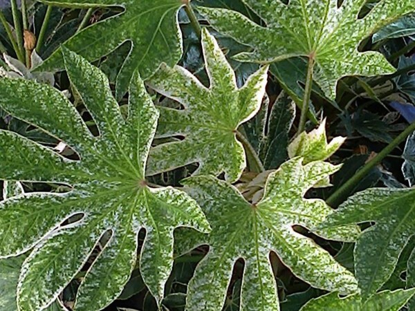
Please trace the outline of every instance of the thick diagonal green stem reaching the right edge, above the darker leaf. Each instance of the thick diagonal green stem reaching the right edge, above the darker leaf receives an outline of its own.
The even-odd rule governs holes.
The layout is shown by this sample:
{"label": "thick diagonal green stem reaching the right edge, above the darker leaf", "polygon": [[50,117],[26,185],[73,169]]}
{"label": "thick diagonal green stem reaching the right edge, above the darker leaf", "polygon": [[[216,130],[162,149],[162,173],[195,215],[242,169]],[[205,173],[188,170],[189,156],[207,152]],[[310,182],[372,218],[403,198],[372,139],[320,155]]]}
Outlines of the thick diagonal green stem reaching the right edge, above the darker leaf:
{"label": "thick diagonal green stem reaching the right edge, above the darker leaf", "polygon": [[369,162],[365,164],[362,169],[356,172],[356,174],[347,180],[347,182],[344,182],[344,184],[337,189],[327,200],[327,204],[331,205],[332,207],[338,206],[341,202],[344,201],[344,199],[349,195],[350,191],[353,189],[354,186],[360,182],[371,169],[376,167],[382,160],[389,155],[398,145],[403,142],[412,132],[415,131],[415,122],[412,122],[412,124],[409,124],[409,126],[398,135],[397,138],[395,138],[390,144],[387,145],[380,153],[376,155],[373,159],[371,159]]}

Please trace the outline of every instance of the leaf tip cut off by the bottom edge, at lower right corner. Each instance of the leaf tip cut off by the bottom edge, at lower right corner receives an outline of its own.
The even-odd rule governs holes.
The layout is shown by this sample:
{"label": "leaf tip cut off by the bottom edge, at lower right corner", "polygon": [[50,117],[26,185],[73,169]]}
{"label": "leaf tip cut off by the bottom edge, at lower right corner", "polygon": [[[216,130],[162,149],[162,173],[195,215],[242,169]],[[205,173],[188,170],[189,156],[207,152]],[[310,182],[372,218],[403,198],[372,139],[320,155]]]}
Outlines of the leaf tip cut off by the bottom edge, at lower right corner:
{"label": "leaf tip cut off by the bottom edge, at lower right corner", "polygon": [[339,298],[338,293],[331,292],[312,299],[300,311],[399,311],[415,294],[415,289],[379,292],[365,303],[359,295]]}

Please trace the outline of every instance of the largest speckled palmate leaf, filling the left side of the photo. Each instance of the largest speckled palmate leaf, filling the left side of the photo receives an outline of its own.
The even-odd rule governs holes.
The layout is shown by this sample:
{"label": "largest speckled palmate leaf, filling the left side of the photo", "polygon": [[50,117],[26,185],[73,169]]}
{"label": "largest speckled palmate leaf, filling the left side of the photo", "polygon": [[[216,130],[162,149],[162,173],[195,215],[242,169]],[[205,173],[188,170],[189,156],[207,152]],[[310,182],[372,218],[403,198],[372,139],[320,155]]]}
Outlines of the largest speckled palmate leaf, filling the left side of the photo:
{"label": "largest speckled palmate leaf, filling the left side of the photo", "polygon": [[[171,187],[151,189],[145,164],[158,112],[138,73],[130,84],[124,120],[107,77],[85,59],[63,50],[69,78],[100,131],[94,137],[59,91],[24,80],[0,80],[0,106],[37,124],[77,151],[67,160],[46,147],[0,131],[0,178],[61,182],[64,194],[30,193],[0,203],[0,256],[35,247],[22,267],[19,310],[42,310],[110,236],[82,281],[75,310],[100,310],[120,294],[136,263],[140,229],[147,232],[140,255],[142,278],[158,301],[173,263],[175,227],[209,225],[192,198]],[[73,215],[82,219],[64,223]]]}

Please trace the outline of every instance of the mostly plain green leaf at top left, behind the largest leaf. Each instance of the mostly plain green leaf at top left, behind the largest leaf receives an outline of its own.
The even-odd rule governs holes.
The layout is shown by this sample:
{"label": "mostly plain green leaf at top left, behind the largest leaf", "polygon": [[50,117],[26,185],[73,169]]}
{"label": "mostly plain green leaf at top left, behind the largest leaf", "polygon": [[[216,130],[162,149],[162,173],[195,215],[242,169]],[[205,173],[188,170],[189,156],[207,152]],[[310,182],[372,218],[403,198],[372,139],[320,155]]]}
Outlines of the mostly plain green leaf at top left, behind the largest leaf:
{"label": "mostly plain green leaf at top left, behind the largest leaf", "polygon": [[[45,0],[43,3],[71,8],[121,6],[124,12],[95,23],[64,43],[93,61],[111,53],[125,41],[131,41],[130,53],[125,59],[116,83],[117,97],[127,91],[135,70],[142,79],[150,77],[162,62],[173,66],[181,58],[181,32],[177,12],[181,0]],[[53,53],[43,65],[45,70],[63,69],[62,48]]]}

